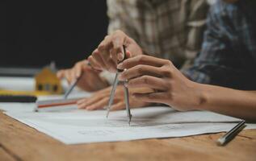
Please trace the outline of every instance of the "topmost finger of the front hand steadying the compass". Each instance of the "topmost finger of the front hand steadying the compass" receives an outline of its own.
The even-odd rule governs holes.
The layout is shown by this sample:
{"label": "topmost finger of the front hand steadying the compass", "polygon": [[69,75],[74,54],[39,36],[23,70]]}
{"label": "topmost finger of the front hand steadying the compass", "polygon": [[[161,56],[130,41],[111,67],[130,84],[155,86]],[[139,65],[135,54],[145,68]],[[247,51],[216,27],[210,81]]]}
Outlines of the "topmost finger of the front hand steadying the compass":
{"label": "topmost finger of the front hand steadying the compass", "polygon": [[145,64],[145,65],[151,65],[155,67],[162,67],[164,64],[166,64],[168,60],[163,60],[160,58],[156,58],[153,56],[135,56],[132,58],[129,58],[127,60],[124,60],[122,63],[120,63],[117,68],[124,69],[124,68],[132,68],[138,64]]}

